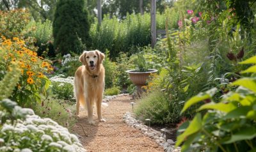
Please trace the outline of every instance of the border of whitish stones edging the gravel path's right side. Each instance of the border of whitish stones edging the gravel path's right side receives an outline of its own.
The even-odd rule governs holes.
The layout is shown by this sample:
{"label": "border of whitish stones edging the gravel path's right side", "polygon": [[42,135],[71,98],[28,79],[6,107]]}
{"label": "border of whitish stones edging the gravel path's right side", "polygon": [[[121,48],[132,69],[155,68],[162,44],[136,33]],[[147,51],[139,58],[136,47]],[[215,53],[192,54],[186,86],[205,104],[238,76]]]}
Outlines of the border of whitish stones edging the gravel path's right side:
{"label": "border of whitish stones edging the gravel path's right side", "polygon": [[136,120],[136,118],[131,114],[131,112],[126,112],[123,116],[123,121],[137,130],[140,130],[144,135],[147,135],[155,141],[159,146],[163,147],[166,152],[180,152],[181,148],[175,148],[175,142],[172,139],[165,140],[165,135],[163,137],[163,133],[158,132],[152,128],[148,129],[148,126],[143,125],[141,121]]}

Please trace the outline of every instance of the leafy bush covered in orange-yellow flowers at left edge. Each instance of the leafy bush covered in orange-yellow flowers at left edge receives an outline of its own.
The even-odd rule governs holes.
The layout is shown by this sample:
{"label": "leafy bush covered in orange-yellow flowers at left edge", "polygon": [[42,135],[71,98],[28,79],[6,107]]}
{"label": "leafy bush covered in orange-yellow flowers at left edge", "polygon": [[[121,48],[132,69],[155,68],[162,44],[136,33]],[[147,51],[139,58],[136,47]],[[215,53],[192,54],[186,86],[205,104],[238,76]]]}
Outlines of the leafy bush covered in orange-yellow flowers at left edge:
{"label": "leafy bush covered in orange-yellow flowers at left edge", "polygon": [[51,72],[52,66],[47,60],[38,57],[36,52],[26,48],[23,40],[13,38],[0,39],[1,46],[1,77],[9,70],[9,66],[17,63],[21,71],[19,84],[15,87],[11,98],[16,100],[19,105],[40,100],[40,93],[45,95],[51,83],[44,73]]}

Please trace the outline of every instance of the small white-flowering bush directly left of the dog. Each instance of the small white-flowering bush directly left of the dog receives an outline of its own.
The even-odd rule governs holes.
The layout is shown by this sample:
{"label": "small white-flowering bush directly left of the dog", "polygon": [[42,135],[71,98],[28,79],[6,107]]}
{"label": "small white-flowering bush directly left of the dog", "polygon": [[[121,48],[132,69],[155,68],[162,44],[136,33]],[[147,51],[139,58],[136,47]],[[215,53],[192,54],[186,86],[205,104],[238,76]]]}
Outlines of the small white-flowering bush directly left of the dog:
{"label": "small white-flowering bush directly left of the dog", "polygon": [[75,102],[73,84],[74,77],[63,78],[63,75],[51,77],[51,91],[54,98]]}

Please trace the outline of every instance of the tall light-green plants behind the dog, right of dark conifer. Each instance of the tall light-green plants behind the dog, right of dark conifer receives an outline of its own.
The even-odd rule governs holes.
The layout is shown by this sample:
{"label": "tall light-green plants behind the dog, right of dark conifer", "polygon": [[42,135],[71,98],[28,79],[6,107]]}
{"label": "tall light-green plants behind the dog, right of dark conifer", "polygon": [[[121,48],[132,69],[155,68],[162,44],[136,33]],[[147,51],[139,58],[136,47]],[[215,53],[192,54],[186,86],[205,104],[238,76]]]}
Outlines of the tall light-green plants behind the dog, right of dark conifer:
{"label": "tall light-green plants behind the dog, right of dark conifer", "polygon": [[[164,15],[157,14],[157,29],[164,29]],[[116,17],[109,19],[106,15],[99,27],[92,24],[90,29],[92,48],[104,51],[110,50],[109,56],[114,58],[119,52],[132,54],[137,46],[145,46],[150,43],[150,15],[127,15],[125,20]]]}

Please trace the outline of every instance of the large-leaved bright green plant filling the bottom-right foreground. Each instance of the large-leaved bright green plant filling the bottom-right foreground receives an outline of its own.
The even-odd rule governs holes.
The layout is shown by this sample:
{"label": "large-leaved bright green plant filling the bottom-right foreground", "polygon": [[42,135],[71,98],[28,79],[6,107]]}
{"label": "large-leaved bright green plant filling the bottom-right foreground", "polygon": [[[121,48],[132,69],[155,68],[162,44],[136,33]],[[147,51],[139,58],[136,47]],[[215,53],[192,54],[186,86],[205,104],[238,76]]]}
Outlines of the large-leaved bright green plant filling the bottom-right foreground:
{"label": "large-leaved bright green plant filling the bottom-right foreground", "polygon": [[[242,64],[252,63],[253,58]],[[214,98],[214,89],[200,93],[186,102],[184,110],[205,98],[211,101],[198,108],[198,111],[207,112],[204,116],[196,114],[188,128],[177,138],[176,146],[184,142],[183,151],[253,151],[256,139],[256,70],[250,73],[250,77],[242,77],[228,84],[230,87],[237,86],[236,90],[217,100]]]}

